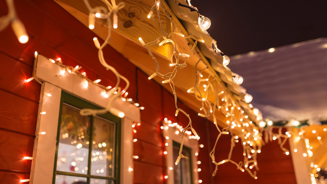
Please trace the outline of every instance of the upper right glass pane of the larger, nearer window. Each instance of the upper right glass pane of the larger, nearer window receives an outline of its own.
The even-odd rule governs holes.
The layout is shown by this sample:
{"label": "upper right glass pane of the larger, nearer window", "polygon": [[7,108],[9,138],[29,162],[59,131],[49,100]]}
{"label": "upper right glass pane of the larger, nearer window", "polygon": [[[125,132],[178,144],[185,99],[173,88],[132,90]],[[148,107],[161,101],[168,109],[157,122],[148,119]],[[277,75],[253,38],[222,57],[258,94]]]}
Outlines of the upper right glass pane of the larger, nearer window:
{"label": "upper right glass pane of the larger, nearer window", "polygon": [[115,124],[95,116],[93,124],[93,142],[91,175],[114,176]]}

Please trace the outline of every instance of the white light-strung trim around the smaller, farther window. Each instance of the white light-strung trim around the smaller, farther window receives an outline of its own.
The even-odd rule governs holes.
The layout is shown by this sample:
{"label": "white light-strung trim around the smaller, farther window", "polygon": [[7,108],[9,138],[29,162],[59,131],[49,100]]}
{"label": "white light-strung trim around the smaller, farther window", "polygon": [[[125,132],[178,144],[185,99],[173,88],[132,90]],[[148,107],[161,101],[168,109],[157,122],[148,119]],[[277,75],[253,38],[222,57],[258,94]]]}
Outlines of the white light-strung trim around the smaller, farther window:
{"label": "white light-strung trim around the smaller, farther window", "polygon": [[[170,170],[169,168],[174,168],[176,160],[174,160],[173,155],[173,141],[177,143],[181,143],[181,132],[179,134],[176,134],[176,128],[175,127],[169,127],[166,129],[167,124],[163,123],[163,129],[162,134],[163,137],[169,137],[169,139],[165,139],[165,143],[168,143],[168,146],[165,146],[165,151],[167,151],[166,154],[166,166],[167,166],[167,184],[174,184],[174,169]],[[168,126],[167,126],[168,127]],[[191,159],[192,159],[192,183],[198,183],[199,182],[199,173],[198,173],[198,156],[195,155],[195,153],[199,153],[199,143],[198,141],[194,139],[189,139],[188,135],[184,135],[184,141],[183,146],[186,146],[191,149]],[[180,163],[179,163],[180,164]]]}

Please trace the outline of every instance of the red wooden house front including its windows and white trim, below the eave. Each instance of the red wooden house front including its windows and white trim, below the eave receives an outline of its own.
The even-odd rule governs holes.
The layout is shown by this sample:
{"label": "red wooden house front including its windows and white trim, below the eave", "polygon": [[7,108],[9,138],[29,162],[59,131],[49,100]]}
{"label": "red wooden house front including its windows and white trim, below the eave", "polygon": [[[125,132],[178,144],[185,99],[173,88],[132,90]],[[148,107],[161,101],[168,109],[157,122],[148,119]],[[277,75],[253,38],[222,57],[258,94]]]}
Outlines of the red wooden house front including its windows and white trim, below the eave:
{"label": "red wooden house front including its windows and white trim, below the eave", "polygon": [[[10,26],[0,32],[0,183],[20,183],[24,179],[29,179],[24,183],[296,183],[292,158],[283,154],[277,142],[265,145],[258,155],[258,179],[237,170],[232,163],[219,166],[216,175],[212,176],[215,165],[209,153],[218,135],[215,124],[198,116],[198,111],[180,99],[177,100],[179,108],[189,114],[201,139],[185,138],[186,142],[197,143],[196,146],[192,142],[185,143],[183,154],[190,154],[190,158],[197,160],[182,159],[182,166],[175,166],[175,150],[178,151],[181,142],[173,142],[171,137],[169,144],[172,145],[168,148],[166,137],[170,134],[162,133],[161,126],[166,126],[164,119],[167,118],[167,122],[176,122],[185,127],[188,119],[181,115],[174,116],[175,99],[171,90],[148,80],[144,69],[135,66],[110,45],[103,50],[104,58],[130,81],[127,99],[133,99],[144,110],[140,111],[140,115],[125,113],[125,120],[112,115],[89,119],[88,116],[80,116],[76,113],[78,109],[98,108],[101,100],[96,100],[97,97],[91,93],[74,92],[70,88],[72,84],[63,84],[68,79],[58,79],[61,80],[58,83],[47,80],[46,76],[56,70],[52,67],[60,66],[52,66],[48,60],[46,63],[46,59],[57,62],[60,58],[64,65],[82,66],[80,72],[85,72],[88,79],[101,79],[99,84],[114,86],[115,76],[98,61],[98,50],[92,40],[98,35],[55,1],[16,0],[14,5],[29,40],[24,44],[18,42]],[[0,16],[7,13],[6,2],[0,2]],[[44,86],[36,80],[25,82],[33,76],[35,51],[39,54],[39,68],[42,63],[46,63],[42,65],[45,68],[51,65],[51,70],[40,74]],[[69,74],[66,72],[64,75]],[[91,86],[97,87],[89,82]],[[44,95],[45,92],[52,96]],[[140,110],[130,103],[122,104],[117,103],[117,108]],[[69,132],[67,135],[66,131]],[[126,135],[126,131],[132,132],[130,136]],[[228,156],[230,141],[231,135],[219,139],[215,155],[217,160]],[[81,149],[76,148],[79,142]],[[285,147],[289,147],[288,142]],[[232,159],[243,160],[240,144],[236,144]],[[99,164],[93,168],[92,164],[96,161]],[[169,180],[170,176],[174,176],[174,180]]]}

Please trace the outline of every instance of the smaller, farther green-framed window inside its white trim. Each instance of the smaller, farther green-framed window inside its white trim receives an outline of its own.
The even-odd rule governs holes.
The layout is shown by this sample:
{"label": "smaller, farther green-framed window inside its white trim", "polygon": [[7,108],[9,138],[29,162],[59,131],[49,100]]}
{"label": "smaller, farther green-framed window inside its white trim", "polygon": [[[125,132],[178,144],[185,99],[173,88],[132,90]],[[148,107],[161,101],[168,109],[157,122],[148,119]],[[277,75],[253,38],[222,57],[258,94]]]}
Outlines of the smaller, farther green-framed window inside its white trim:
{"label": "smaller, farther green-framed window inside its white trim", "polygon": [[[174,161],[179,156],[181,144],[173,142]],[[192,160],[191,149],[183,145],[182,154],[189,159],[181,159],[180,163],[174,164],[174,183],[175,184],[189,184],[192,183]]]}

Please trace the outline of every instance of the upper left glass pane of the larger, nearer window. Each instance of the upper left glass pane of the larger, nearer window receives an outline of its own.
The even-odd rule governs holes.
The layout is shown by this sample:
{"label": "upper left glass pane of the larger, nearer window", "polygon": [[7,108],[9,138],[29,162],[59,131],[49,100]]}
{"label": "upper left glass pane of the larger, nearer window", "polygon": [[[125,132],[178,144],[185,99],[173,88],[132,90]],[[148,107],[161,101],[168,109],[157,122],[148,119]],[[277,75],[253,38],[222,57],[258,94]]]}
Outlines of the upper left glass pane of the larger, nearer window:
{"label": "upper left glass pane of the larger, nearer window", "polygon": [[62,105],[57,171],[87,174],[90,120],[79,109]]}

